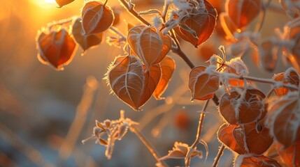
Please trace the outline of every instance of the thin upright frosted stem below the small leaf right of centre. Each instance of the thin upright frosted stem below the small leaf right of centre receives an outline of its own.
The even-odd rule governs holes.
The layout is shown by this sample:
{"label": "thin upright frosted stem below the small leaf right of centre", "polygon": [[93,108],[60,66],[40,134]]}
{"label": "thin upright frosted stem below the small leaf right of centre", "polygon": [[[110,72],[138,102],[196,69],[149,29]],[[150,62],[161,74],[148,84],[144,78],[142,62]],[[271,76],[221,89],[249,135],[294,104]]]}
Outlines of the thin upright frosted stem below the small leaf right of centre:
{"label": "thin upright frosted stem below the small leaf right of centre", "polygon": [[[191,145],[191,148],[193,150],[197,147],[197,145],[199,143],[199,140],[200,140],[202,127],[203,127],[203,120],[204,120],[204,117],[205,117],[205,111],[206,111],[206,108],[208,106],[208,103],[209,103],[209,100],[206,100],[205,104],[202,107],[202,111],[201,111],[200,118],[199,118],[197,136],[196,136],[196,139],[195,139],[194,143]],[[185,161],[185,166],[190,166],[190,161],[191,161],[191,157],[187,157],[187,160]]]}

